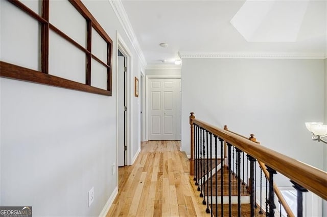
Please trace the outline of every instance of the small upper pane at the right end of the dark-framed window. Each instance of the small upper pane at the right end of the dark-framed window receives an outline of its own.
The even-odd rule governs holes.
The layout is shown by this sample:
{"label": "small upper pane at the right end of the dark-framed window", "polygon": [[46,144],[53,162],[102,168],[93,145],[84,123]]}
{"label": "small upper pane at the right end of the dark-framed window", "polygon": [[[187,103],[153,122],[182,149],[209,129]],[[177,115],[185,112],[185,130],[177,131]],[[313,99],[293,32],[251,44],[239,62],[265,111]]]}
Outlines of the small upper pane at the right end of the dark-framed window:
{"label": "small upper pane at the right end of the dark-framed window", "polygon": [[107,61],[107,42],[99,35],[99,33],[92,28],[92,54],[108,64]]}

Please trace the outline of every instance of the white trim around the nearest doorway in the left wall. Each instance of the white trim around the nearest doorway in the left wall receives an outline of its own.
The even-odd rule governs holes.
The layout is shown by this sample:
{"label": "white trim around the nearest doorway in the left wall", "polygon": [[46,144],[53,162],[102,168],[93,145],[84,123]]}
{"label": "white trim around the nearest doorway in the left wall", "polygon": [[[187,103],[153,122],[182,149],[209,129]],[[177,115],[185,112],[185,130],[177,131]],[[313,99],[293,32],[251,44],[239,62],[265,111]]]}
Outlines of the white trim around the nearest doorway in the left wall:
{"label": "white trim around the nearest doorway in the left wall", "polygon": [[[132,97],[131,97],[131,92],[132,92],[132,54],[128,49],[128,46],[126,45],[126,43],[124,42],[123,38],[121,37],[121,35],[119,34],[119,32],[117,31],[117,47],[116,47],[116,57],[118,56],[118,49],[124,54],[124,56],[126,57],[126,65],[127,65],[127,151],[126,151],[126,160],[125,163],[126,165],[131,165],[132,164],[132,124],[131,124],[131,120],[132,120]],[[118,58],[116,58],[116,72],[118,71]],[[118,76],[116,75],[116,129],[118,129],[118,123],[119,123],[119,119],[118,119],[118,97],[117,97],[117,92],[118,92]],[[118,165],[118,132],[116,132],[116,158],[117,158],[117,162],[116,165]],[[118,178],[117,178],[118,179]]]}

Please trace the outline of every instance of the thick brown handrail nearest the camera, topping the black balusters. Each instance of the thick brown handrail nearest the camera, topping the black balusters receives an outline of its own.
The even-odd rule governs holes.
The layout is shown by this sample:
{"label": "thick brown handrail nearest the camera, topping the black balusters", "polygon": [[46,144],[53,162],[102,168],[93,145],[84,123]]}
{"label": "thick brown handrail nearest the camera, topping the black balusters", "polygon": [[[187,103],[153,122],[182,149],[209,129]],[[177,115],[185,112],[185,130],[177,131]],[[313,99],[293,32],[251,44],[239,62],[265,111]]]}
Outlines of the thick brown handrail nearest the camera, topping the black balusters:
{"label": "thick brown handrail nearest the camera, topping the black balusters", "polygon": [[[264,146],[258,146],[256,143],[246,138],[243,138],[239,135],[235,135],[226,130],[217,128],[196,118],[192,118],[192,125],[193,123],[224,139],[228,143],[233,144],[233,146],[246,152],[250,156],[260,160],[262,163],[273,168],[278,173],[283,174],[284,176],[288,177],[289,179],[301,185],[302,187],[305,187],[306,189],[312,191],[314,194],[318,195],[322,199],[327,200],[326,172],[321,171],[318,168],[315,168],[308,164],[302,163],[286,155],[283,155],[281,153],[278,153],[272,149],[266,148]],[[191,145],[191,150],[192,149],[193,148]]]}

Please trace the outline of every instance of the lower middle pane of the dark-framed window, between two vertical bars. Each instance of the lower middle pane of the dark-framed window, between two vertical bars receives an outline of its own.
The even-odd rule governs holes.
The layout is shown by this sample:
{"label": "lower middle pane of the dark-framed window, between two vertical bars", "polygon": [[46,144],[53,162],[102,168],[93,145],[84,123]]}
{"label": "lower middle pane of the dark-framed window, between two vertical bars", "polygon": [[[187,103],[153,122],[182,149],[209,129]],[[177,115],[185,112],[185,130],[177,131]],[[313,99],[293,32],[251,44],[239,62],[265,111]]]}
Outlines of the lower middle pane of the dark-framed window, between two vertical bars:
{"label": "lower middle pane of the dark-framed window, between two vertical bars", "polygon": [[85,84],[85,53],[49,32],[49,74]]}

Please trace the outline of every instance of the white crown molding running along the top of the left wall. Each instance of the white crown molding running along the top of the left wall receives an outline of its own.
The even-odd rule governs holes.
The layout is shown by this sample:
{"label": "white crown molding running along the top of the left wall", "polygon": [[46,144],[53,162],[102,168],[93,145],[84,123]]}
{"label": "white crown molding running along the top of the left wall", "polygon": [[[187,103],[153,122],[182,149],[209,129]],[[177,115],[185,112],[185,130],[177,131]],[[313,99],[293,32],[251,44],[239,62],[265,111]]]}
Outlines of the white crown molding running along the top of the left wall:
{"label": "white crown molding running along the top of the left wall", "polygon": [[141,60],[143,67],[146,68],[147,61],[144,57],[141,46],[139,45],[138,40],[135,36],[134,30],[128,19],[128,16],[126,14],[126,11],[125,11],[122,1],[121,0],[108,0],[108,1],[110,3],[114,13],[118,17],[121,25],[123,26],[123,29],[124,29],[128,39],[130,40],[131,44],[133,45],[139,60]]}

